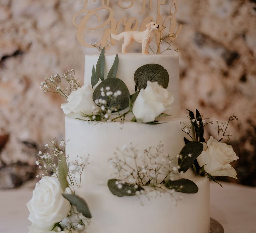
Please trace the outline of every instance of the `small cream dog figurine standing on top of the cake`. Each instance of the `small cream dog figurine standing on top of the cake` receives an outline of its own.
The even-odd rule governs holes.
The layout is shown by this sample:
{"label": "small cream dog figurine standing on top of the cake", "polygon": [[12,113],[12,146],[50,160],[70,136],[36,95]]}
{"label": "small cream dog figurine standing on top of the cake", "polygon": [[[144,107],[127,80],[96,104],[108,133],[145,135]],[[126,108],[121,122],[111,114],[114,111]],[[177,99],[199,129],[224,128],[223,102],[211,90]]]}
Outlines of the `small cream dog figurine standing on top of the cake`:
{"label": "small cream dog figurine standing on top of the cake", "polygon": [[122,53],[127,53],[126,48],[127,46],[133,42],[137,41],[139,43],[142,43],[142,54],[148,54],[149,49],[149,43],[153,39],[153,31],[159,28],[159,25],[155,22],[150,22],[147,25],[147,29],[143,32],[138,31],[127,31],[122,32],[119,35],[115,35],[111,33],[111,37],[115,40],[120,41],[122,38],[124,38],[124,43],[122,45]]}

